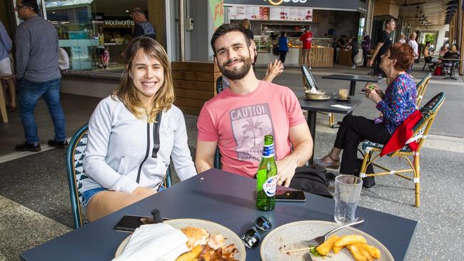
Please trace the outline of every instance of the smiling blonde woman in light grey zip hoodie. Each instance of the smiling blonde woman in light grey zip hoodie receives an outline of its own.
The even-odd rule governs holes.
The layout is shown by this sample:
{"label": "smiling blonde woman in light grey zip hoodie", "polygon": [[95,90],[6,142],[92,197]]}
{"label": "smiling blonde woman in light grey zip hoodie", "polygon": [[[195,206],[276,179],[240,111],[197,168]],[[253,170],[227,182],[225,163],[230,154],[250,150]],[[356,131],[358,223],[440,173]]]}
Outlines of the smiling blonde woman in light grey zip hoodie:
{"label": "smiling blonde woman in light grey zip hoodie", "polygon": [[96,107],[81,193],[86,218],[96,220],[158,191],[170,158],[181,180],[196,175],[186,123],[173,105],[168,56],[141,36],[126,48],[121,85]]}

